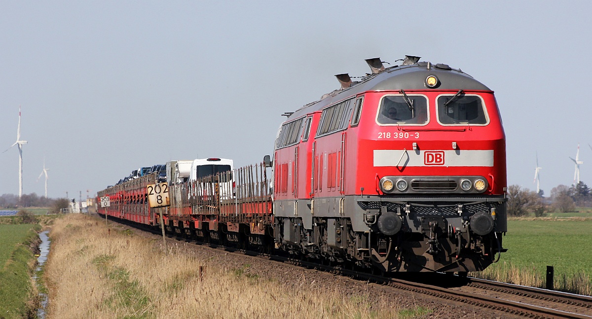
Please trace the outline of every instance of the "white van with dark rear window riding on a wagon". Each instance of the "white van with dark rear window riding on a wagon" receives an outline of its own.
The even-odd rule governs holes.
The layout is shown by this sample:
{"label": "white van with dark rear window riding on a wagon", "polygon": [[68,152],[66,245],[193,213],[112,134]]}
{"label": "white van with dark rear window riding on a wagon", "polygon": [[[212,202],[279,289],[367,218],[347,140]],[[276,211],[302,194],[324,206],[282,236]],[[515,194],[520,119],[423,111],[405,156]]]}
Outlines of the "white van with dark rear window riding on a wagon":
{"label": "white van with dark rear window riding on a wagon", "polygon": [[234,165],[231,159],[195,159],[191,164],[189,181],[198,181],[206,176],[220,176],[218,189],[220,199],[234,198]]}

